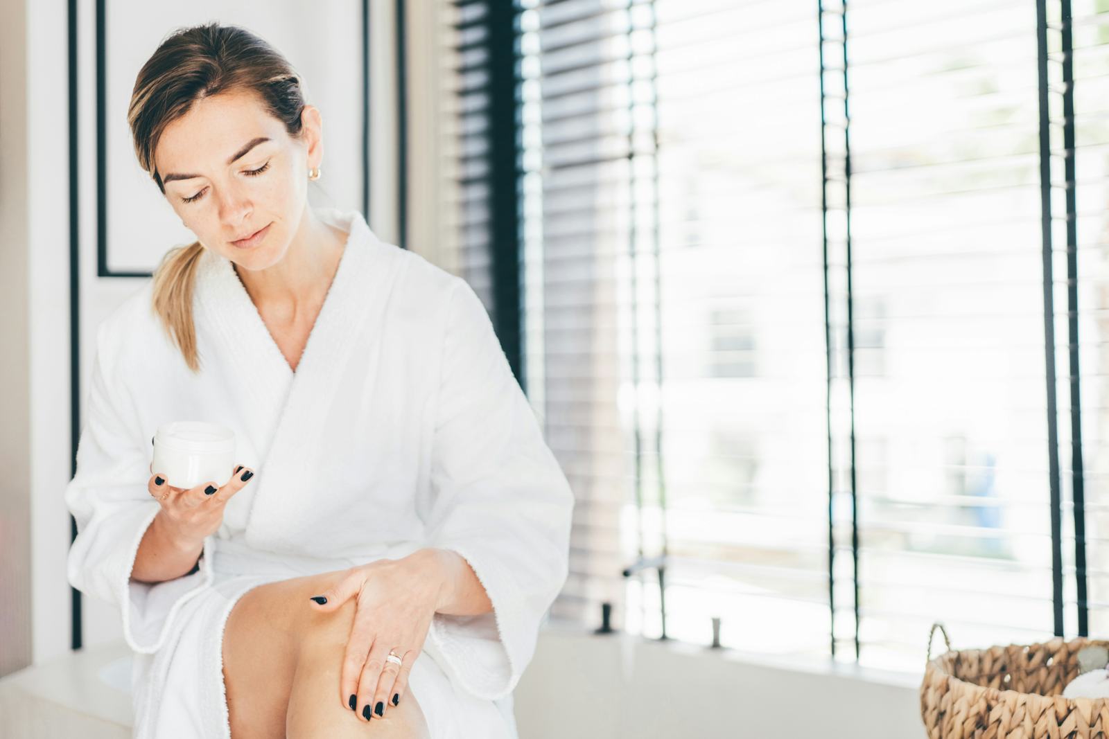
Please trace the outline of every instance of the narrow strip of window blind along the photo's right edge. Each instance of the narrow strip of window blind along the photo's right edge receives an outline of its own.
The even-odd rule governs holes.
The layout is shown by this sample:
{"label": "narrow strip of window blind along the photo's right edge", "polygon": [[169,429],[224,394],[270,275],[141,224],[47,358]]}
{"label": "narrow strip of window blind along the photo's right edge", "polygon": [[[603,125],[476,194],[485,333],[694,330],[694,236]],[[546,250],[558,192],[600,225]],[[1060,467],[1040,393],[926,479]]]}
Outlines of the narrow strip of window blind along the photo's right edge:
{"label": "narrow strip of window blind along the photo's right edge", "polygon": [[1109,2],[1074,0],[1047,9],[1052,239],[1057,284],[1066,292],[1056,330],[1065,380],[1060,466],[1069,493],[1064,552],[1076,560],[1067,606],[1077,610],[1078,633],[1100,637],[1109,629]]}

